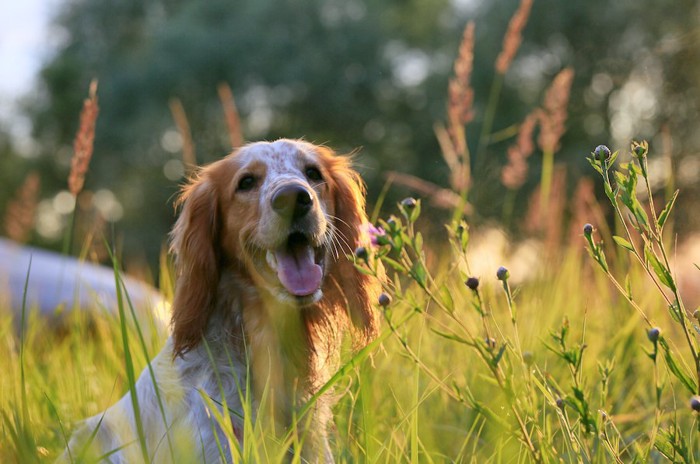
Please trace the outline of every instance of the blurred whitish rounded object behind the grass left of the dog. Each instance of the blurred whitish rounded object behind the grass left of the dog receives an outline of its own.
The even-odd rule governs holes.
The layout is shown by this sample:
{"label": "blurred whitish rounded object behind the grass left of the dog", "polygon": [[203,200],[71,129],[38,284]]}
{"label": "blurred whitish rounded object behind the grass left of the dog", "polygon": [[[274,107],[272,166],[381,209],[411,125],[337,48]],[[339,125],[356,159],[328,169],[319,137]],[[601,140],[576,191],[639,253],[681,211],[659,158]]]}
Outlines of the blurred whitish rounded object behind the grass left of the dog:
{"label": "blurred whitish rounded object behind the grass left of the dog", "polygon": [[[155,325],[165,334],[170,315],[163,295],[144,282],[120,277],[127,314],[131,313],[128,295],[141,327]],[[47,319],[74,308],[118,312],[113,269],[0,238],[0,308],[11,308],[16,320],[21,317],[25,284],[26,310],[38,311]]]}

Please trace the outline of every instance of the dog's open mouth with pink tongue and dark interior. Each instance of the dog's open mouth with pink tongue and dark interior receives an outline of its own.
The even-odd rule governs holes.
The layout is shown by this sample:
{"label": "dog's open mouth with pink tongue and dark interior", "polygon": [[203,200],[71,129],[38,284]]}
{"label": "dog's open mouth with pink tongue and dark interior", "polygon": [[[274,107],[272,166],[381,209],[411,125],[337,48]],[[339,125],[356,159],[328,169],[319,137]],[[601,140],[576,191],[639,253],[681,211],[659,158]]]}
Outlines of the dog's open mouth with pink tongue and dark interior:
{"label": "dog's open mouth with pink tongue and dark interior", "polygon": [[310,296],[321,288],[323,247],[314,247],[306,235],[293,232],[285,244],[269,250],[266,259],[290,294]]}

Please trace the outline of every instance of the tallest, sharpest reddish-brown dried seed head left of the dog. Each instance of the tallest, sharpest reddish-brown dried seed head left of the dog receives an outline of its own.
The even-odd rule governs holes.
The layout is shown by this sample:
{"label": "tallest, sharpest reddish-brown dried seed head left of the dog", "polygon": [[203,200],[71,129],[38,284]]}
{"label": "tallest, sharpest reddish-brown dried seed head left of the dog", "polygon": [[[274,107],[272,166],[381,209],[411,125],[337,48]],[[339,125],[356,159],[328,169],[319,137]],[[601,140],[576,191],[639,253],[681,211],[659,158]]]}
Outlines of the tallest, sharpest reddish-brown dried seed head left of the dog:
{"label": "tallest, sharpest reddish-brown dried seed head left of the dog", "polygon": [[88,98],[83,102],[80,112],[80,126],[73,141],[73,158],[71,159],[68,189],[77,197],[85,185],[85,175],[90,166],[95,141],[95,124],[100,108],[97,104],[97,80],[90,82]]}

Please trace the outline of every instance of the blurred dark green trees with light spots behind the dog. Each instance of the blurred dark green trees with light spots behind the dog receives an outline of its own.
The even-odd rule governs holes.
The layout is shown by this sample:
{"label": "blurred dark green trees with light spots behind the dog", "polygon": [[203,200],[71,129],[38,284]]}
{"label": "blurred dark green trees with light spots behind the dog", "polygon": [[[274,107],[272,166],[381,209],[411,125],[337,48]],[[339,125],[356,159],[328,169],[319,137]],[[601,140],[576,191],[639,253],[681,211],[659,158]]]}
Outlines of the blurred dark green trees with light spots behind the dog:
{"label": "blurred dark green trees with light spots behind the dog", "polygon": [[[0,105],[0,218],[31,172],[34,224],[23,238],[61,249],[75,207],[66,179],[90,82],[99,82],[94,155],[77,208],[79,248],[99,236],[120,248],[127,268],[155,272],[185,180],[186,116],[198,163],[231,150],[218,89],[233,92],[246,140],[305,137],[340,152],[361,149],[358,168],[370,200],[392,171],[449,185],[434,125],[445,120],[447,83],[462,31],[474,21],[471,85],[476,144],[496,76],[494,63],[518,0],[51,0],[32,53],[37,73]],[[11,7],[4,21],[12,21]],[[39,13],[37,13],[39,14]],[[692,0],[535,0],[523,42],[503,81],[490,143],[472,156],[472,225],[496,224],[515,238],[526,227],[540,180],[541,153],[511,213],[501,170],[518,125],[541,104],[562,69],[575,72],[566,133],[555,161],[565,169],[556,195],[561,242],[575,224],[585,156],[596,145],[629,150],[651,144],[659,201],[680,188],[675,230],[691,236],[700,176],[700,3]],[[16,50],[29,32],[0,31],[0,50]],[[14,32],[13,32],[14,31]],[[15,77],[21,56],[3,53],[0,79]],[[560,169],[563,172],[563,169]],[[670,186],[670,187],[669,187]],[[414,193],[389,186],[390,204]],[[438,207],[429,215],[446,215]],[[7,226],[7,220],[6,228]],[[7,230],[6,230],[7,233]],[[541,231],[539,232],[541,233]],[[98,257],[99,259],[99,257]]]}

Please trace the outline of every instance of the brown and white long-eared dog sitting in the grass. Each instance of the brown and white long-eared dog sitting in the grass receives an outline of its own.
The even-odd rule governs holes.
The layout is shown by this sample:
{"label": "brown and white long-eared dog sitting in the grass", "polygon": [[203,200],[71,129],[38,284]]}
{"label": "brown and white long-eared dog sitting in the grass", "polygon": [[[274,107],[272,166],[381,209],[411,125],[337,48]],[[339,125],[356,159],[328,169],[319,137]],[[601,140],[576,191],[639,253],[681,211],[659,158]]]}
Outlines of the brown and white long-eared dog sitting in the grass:
{"label": "brown and white long-eared dog sitting in the grass", "polygon": [[[202,168],[177,205],[172,333],[135,387],[74,433],[64,457],[182,462],[174,441],[193,461],[230,462],[237,445],[224,424],[240,444],[242,398],[268,398],[264,411],[290,427],[337,370],[344,333],[356,347],[377,334],[381,277],[348,259],[370,244],[349,157],[302,140],[251,143]],[[332,462],[333,401],[316,396],[293,433],[305,461]],[[230,423],[217,419],[226,412]]]}

